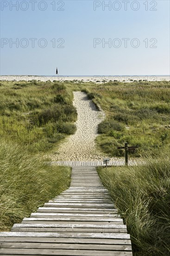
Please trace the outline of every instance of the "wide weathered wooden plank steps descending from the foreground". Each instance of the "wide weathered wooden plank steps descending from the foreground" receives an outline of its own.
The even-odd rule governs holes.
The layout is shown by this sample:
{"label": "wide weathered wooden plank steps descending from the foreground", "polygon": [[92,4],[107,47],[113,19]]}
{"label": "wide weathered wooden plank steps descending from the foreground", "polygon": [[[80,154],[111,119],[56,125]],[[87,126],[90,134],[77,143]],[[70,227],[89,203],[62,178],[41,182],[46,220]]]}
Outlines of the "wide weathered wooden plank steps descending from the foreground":
{"label": "wide weathered wooden plank steps descending from the foreground", "polygon": [[130,236],[94,167],[72,169],[70,188],[10,232],[0,255],[132,256]]}

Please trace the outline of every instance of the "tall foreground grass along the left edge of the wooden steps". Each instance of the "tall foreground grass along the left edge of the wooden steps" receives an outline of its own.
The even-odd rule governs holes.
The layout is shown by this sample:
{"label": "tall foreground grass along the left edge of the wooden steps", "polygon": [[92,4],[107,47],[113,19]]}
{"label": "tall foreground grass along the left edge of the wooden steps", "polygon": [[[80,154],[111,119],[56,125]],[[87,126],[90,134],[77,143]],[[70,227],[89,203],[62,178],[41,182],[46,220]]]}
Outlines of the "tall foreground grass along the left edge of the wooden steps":
{"label": "tall foreground grass along the left edge of the wooden steps", "polygon": [[70,168],[44,164],[23,146],[0,142],[0,230],[30,216],[69,187]]}

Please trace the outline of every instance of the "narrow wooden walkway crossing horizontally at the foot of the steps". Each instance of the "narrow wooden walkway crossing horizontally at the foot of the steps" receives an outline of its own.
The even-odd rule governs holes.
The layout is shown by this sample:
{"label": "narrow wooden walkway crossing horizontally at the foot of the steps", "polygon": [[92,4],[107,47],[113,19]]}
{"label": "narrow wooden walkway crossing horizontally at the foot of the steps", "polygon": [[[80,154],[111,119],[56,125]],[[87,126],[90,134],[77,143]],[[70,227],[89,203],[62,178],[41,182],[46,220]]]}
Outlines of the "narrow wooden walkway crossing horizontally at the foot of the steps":
{"label": "narrow wooden walkway crossing horizontally at the foot of the steps", "polygon": [[[144,161],[141,160],[129,160],[128,165],[129,166],[137,166],[139,164],[144,163]],[[103,164],[103,161],[54,161],[50,162],[50,164],[58,165],[58,166],[70,166],[70,167],[76,167],[76,166],[106,166],[106,164]],[[125,161],[124,160],[117,160],[117,161],[109,161],[108,166],[124,166]]]}

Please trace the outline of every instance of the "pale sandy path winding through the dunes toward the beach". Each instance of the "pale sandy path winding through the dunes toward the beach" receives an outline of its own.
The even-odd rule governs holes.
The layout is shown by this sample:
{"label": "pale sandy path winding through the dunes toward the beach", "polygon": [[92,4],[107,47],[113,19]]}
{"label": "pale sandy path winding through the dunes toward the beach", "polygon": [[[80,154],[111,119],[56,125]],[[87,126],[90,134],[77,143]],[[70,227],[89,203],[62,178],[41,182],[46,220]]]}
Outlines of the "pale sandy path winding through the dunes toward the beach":
{"label": "pale sandy path winding through the dunes toward the beach", "polygon": [[77,131],[70,135],[52,156],[53,161],[94,161],[103,160],[103,153],[96,150],[95,138],[97,126],[103,120],[104,113],[97,111],[87,94],[74,92],[73,105],[77,109]]}

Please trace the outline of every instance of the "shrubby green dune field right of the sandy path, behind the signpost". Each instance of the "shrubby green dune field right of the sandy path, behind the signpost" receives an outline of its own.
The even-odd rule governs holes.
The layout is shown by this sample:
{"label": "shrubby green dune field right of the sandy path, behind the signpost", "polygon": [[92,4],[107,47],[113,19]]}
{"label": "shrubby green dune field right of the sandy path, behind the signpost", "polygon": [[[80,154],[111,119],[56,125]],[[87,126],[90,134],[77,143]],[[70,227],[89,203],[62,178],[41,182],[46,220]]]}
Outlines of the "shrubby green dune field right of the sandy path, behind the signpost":
{"label": "shrubby green dune field right of the sandy path, behind the signpost", "polygon": [[[128,142],[139,146],[131,156],[156,156],[170,146],[170,82],[107,82],[84,84],[89,99],[100,104],[106,119],[99,125],[98,147],[110,157]],[[118,128],[119,124],[119,128]],[[121,128],[120,128],[121,126]]]}

